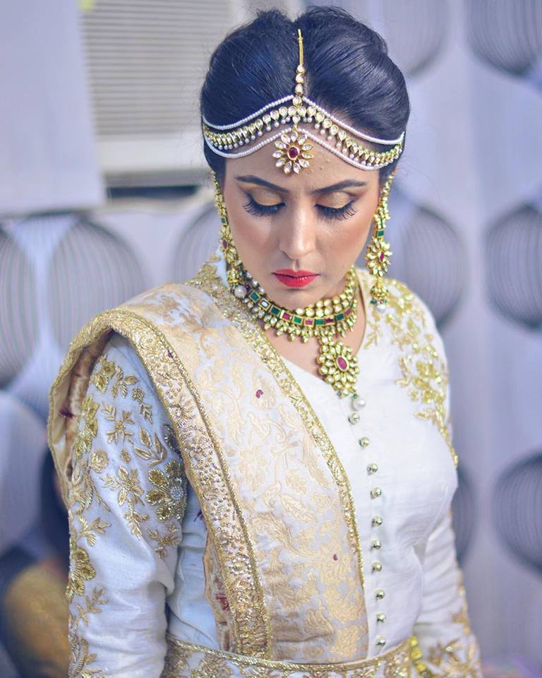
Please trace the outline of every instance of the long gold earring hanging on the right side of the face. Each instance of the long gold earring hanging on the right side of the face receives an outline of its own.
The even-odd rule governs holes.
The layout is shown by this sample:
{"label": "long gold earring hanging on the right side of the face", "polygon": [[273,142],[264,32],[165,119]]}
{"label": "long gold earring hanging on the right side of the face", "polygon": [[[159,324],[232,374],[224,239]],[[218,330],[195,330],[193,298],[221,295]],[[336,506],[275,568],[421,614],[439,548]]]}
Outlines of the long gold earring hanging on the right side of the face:
{"label": "long gold earring hanging on the right side of the face", "polygon": [[371,287],[371,304],[375,304],[378,311],[384,311],[387,304],[388,290],[383,283],[383,278],[387,273],[387,267],[390,265],[390,243],[384,239],[386,222],[390,219],[390,212],[387,207],[387,198],[390,195],[395,169],[387,177],[385,184],[380,191],[380,198],[373,216],[373,235],[371,242],[367,246],[365,259],[367,268],[371,275],[374,275],[376,282]]}

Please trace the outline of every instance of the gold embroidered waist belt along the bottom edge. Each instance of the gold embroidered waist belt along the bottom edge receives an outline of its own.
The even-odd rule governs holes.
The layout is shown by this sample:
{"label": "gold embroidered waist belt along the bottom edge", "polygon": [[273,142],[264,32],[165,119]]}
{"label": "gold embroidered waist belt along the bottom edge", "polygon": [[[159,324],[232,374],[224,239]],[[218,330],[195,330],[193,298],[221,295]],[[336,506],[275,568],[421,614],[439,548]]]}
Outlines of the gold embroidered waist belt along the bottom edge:
{"label": "gold embroidered waist belt along the bottom edge", "polygon": [[294,664],[210,650],[167,638],[161,678],[411,678],[410,639],[373,659],[339,664]]}

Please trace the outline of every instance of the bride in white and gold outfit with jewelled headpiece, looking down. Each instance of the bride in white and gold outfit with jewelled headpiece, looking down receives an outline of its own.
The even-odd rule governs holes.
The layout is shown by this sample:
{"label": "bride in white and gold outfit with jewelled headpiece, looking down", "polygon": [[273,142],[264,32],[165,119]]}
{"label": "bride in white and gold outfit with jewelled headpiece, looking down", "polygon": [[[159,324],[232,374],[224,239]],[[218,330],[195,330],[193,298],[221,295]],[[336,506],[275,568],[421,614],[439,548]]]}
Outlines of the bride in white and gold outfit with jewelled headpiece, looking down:
{"label": "bride in white and gold outfit with jewelled headpiece, looking down", "polygon": [[217,251],[85,324],[51,389],[72,677],[481,676],[445,350],[387,276],[408,117],[337,8],[215,49]]}

